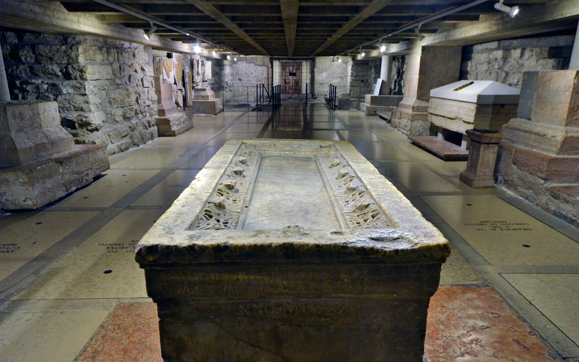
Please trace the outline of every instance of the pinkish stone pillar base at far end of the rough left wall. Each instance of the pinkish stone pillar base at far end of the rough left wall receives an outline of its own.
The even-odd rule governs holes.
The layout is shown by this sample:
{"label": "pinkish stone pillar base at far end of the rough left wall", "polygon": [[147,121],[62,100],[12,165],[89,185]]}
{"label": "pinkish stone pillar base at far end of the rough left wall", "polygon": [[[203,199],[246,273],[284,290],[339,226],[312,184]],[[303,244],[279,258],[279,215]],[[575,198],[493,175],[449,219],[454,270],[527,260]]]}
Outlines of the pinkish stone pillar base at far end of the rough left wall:
{"label": "pinkish stone pillar base at far end of the rough left wall", "polygon": [[193,128],[193,118],[189,113],[179,112],[173,100],[173,84],[155,76],[158,115],[155,117],[159,137],[174,137]]}

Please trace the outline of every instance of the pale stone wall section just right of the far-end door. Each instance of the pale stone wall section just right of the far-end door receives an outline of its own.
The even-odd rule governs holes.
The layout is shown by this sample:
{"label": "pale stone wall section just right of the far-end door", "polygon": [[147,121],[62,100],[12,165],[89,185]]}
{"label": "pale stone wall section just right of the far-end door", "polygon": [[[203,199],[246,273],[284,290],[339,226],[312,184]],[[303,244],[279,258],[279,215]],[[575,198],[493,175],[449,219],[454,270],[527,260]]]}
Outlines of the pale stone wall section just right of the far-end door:
{"label": "pale stone wall section just right of the far-end door", "polygon": [[315,95],[328,95],[329,84],[336,85],[338,93],[349,92],[351,66],[350,57],[316,57]]}

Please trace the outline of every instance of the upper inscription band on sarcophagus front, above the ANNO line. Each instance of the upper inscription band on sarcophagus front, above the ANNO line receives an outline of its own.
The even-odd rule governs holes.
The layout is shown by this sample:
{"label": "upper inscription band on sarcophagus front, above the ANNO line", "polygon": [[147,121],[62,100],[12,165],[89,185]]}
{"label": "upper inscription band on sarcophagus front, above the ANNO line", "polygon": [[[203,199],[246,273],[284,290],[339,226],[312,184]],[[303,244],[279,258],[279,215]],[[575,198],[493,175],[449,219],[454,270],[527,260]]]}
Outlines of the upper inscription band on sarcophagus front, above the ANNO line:
{"label": "upper inscription band on sarcophagus front, above the ANNO line", "polygon": [[[430,273],[425,273],[428,270]],[[171,295],[180,298],[219,296],[256,297],[315,296],[322,294],[397,294],[394,283],[405,286],[404,293],[420,291],[409,279],[432,278],[438,267],[419,271],[416,267],[340,268],[319,266],[303,268],[247,268],[232,272],[219,270],[181,270],[155,274],[149,283],[149,295]],[[153,277],[154,271],[150,272]],[[391,282],[380,282],[383,273]]]}

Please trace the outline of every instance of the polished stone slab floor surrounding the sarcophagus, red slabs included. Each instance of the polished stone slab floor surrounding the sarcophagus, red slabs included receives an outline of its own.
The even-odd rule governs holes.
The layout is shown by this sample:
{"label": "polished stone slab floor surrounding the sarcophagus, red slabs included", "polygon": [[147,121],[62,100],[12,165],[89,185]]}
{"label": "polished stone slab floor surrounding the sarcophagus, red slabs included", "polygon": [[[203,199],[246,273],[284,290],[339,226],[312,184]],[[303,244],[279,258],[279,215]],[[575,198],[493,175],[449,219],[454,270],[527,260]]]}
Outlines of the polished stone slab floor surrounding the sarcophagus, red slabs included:
{"label": "polished stone slab floor surrounding the sarcophagus, red slabs included", "polygon": [[[0,362],[160,361],[135,245],[229,138],[350,141],[449,239],[430,361],[579,361],[579,231],[459,181],[386,121],[323,104],[199,117],[41,210],[0,215]],[[527,324],[528,323],[528,324]]]}

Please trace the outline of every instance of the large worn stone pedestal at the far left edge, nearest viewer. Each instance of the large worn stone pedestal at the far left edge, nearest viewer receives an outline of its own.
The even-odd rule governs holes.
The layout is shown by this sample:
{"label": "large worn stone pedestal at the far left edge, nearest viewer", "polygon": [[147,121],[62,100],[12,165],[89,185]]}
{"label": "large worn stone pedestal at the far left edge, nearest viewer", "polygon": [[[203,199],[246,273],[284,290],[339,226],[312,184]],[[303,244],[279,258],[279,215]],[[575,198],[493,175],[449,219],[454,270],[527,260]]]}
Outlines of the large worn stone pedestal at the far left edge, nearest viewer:
{"label": "large worn stone pedestal at the far left edge, nearest viewer", "polygon": [[34,209],[109,168],[107,145],[75,145],[57,102],[0,104],[0,208]]}

